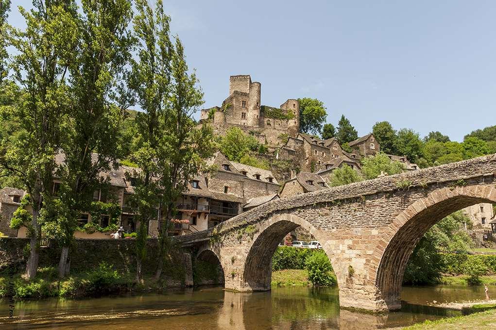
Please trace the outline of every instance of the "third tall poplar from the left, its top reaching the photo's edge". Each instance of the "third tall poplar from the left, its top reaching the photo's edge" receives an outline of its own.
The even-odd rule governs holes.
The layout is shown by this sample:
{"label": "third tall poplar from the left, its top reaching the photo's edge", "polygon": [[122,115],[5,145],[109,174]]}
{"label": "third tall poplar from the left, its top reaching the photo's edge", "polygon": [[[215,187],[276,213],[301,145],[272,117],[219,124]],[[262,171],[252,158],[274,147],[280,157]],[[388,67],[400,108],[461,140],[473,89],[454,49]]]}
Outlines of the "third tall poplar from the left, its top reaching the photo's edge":
{"label": "third tall poplar from the left, its top reaching the photo's edge", "polygon": [[[169,170],[169,164],[161,163],[160,159],[167,159],[170,152],[164,132],[171,128],[168,121],[171,110],[168,105],[172,89],[171,62],[174,47],[169,37],[170,17],[164,13],[162,1],[159,0],[155,8],[152,8],[148,1],[137,0],[136,10],[133,23],[138,41],[138,60],[132,61],[129,85],[143,110],[136,114],[139,148],[131,155],[131,160],[140,168],[131,176],[136,182],[132,203],[137,207],[139,221],[136,281],[141,282],[148,224],[150,220],[157,218],[156,207],[164,196],[160,179],[164,170]],[[174,141],[174,136],[168,137]]]}

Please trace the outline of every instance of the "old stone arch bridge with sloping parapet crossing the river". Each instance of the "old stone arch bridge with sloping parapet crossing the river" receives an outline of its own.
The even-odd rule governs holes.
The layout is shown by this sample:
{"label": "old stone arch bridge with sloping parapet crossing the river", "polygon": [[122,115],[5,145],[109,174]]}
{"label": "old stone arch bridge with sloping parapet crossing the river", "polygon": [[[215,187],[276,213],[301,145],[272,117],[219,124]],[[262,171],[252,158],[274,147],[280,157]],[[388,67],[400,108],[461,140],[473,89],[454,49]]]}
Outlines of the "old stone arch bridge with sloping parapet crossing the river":
{"label": "old stone arch bridge with sloping parapet crossing the river", "polygon": [[455,211],[496,203],[495,176],[491,155],[380,177],[281,198],[179,240],[218,257],[226,289],[269,290],[277,244],[301,225],[331,261],[341,306],[395,310],[417,242]]}

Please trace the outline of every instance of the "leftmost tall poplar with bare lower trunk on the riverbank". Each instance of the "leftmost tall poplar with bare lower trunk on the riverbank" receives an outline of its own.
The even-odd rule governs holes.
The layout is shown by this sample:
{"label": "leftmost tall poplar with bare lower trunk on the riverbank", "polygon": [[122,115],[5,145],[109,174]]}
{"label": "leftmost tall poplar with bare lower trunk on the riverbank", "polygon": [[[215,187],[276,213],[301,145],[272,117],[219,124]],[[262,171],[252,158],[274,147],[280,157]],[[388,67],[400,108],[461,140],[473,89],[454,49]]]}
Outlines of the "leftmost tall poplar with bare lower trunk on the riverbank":
{"label": "leftmost tall poplar with bare lower trunk on the riverbank", "polygon": [[13,143],[0,145],[0,170],[15,175],[26,187],[33,216],[28,227],[30,254],[25,277],[34,278],[41,238],[40,211],[52,192],[55,154],[62,143],[66,109],[70,107],[66,73],[77,44],[75,5],[71,0],[35,1],[34,9],[19,10],[26,30],[12,29],[9,42],[14,80],[24,98],[13,110],[21,130]]}

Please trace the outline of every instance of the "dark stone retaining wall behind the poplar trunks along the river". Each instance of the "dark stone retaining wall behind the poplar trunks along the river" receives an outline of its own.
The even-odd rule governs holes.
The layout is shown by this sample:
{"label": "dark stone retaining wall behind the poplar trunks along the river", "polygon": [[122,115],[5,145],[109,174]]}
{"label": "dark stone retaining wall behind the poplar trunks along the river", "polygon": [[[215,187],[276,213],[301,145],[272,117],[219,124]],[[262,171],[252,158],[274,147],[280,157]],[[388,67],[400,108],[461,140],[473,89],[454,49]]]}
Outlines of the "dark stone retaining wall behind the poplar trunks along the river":
{"label": "dark stone retaining wall behind the poplar trunks along the river", "polygon": [[[120,272],[134,273],[135,242],[133,239],[76,239],[69,254],[71,272],[86,272],[95,269],[101,262],[106,262],[114,265]],[[28,244],[28,238],[0,238],[0,270],[16,267],[23,271],[26,267],[28,253],[25,249]],[[158,241],[149,239],[147,244],[147,255],[142,267],[144,274],[152,275],[156,270]],[[39,267],[57,267],[59,258],[60,248],[55,242],[51,242],[50,247],[40,248]],[[167,260],[164,278],[177,285],[192,285],[189,252],[183,249],[171,250]]]}

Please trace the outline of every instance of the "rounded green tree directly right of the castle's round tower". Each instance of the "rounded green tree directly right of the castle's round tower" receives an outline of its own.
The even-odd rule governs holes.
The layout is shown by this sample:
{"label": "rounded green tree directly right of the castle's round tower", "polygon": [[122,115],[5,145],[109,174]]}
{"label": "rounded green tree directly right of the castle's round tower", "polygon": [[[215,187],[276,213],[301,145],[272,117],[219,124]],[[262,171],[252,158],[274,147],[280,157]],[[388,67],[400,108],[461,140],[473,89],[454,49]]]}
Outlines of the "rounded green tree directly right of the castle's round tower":
{"label": "rounded green tree directly right of the castle's round tower", "polygon": [[322,124],[327,117],[324,104],[317,99],[298,99],[300,103],[300,131],[304,133],[318,134],[322,130]]}

